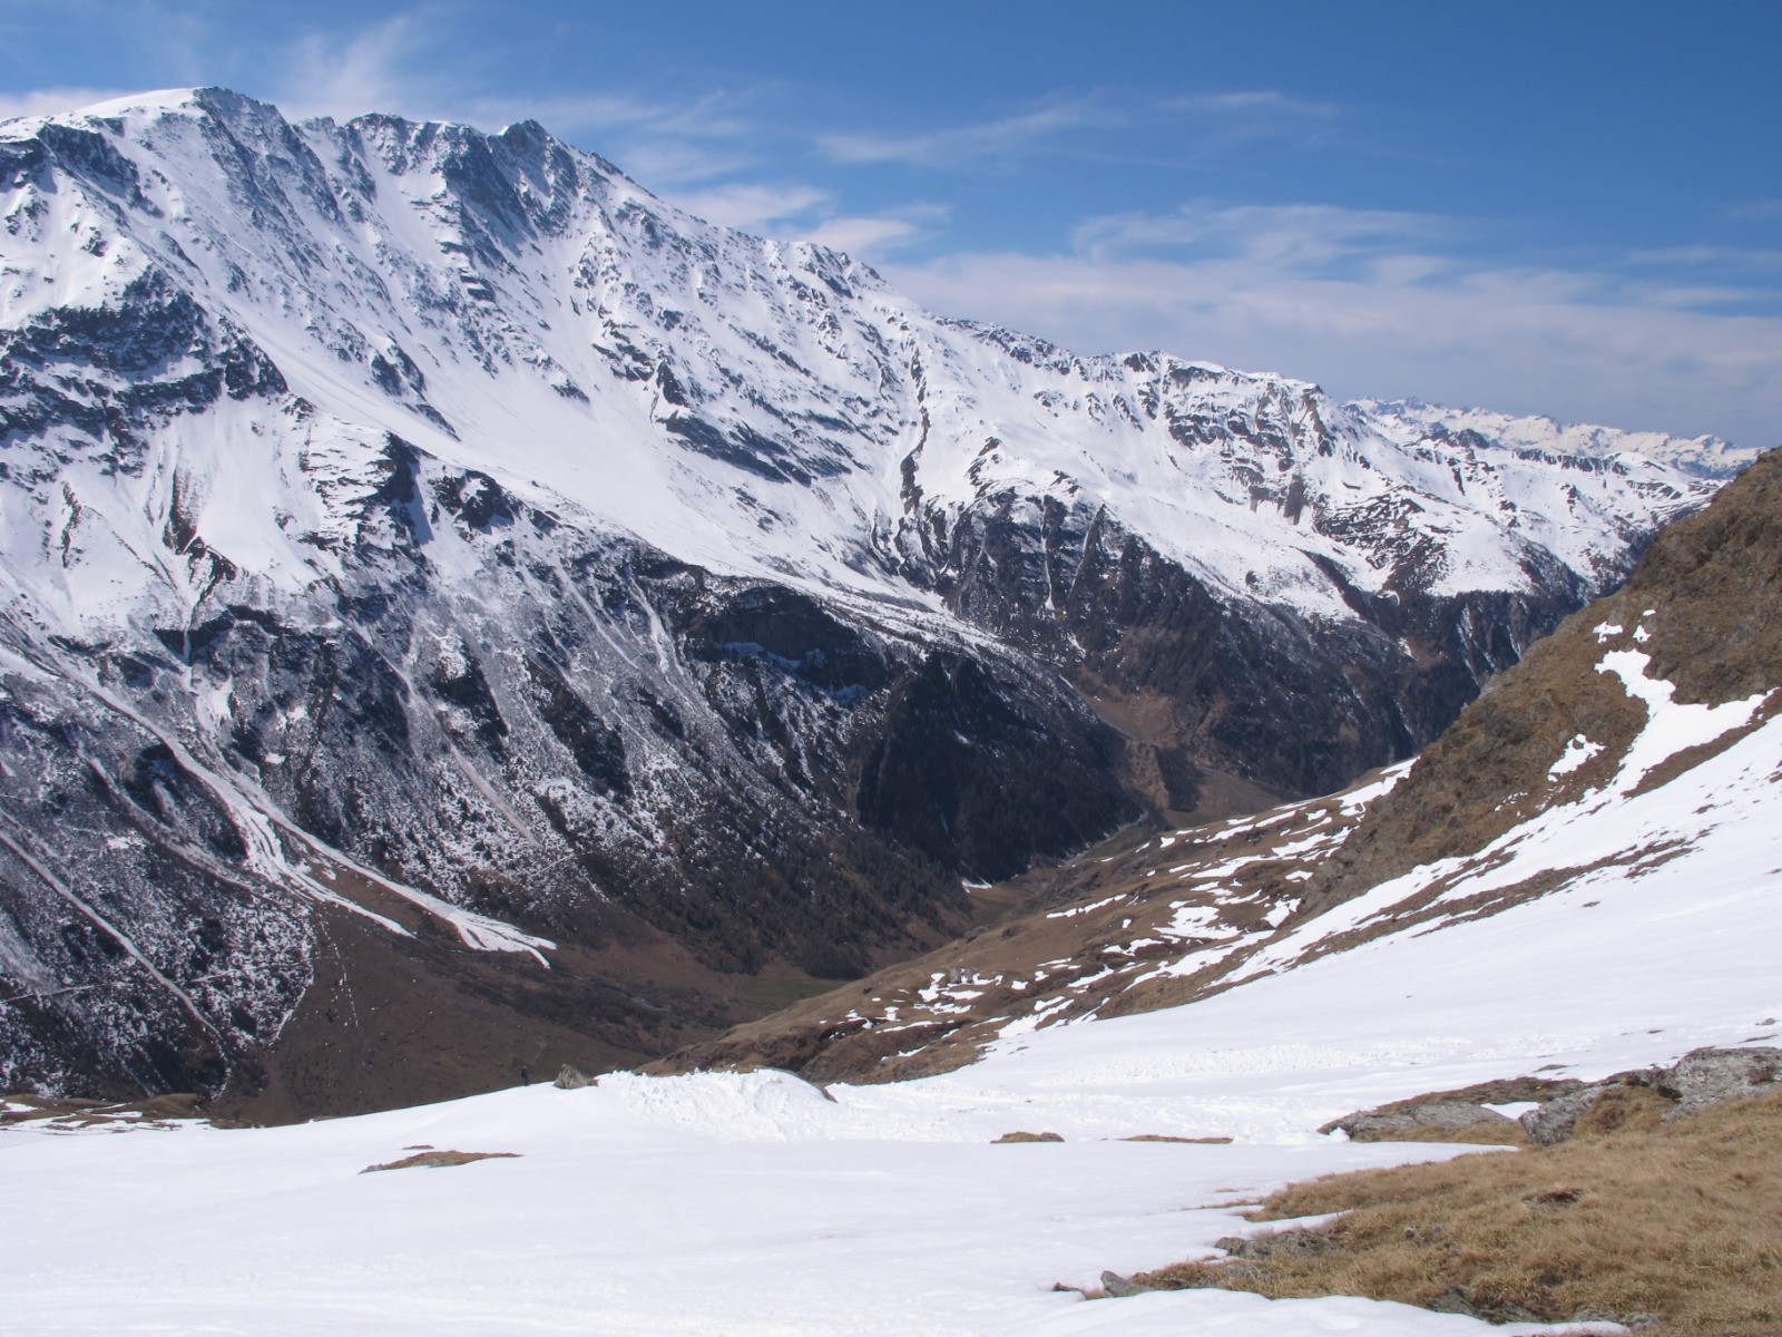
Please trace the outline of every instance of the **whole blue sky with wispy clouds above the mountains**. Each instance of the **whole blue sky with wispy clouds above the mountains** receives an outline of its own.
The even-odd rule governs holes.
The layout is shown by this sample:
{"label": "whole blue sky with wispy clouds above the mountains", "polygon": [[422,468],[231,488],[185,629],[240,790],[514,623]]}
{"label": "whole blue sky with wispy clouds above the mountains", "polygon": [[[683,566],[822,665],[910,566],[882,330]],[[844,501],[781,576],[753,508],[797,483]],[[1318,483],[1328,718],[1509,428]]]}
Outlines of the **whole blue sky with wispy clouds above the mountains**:
{"label": "whole blue sky with wispy clouds above the mountains", "polygon": [[0,0],[0,114],[536,118],[1082,351],[1770,446],[1778,52],[1777,0]]}

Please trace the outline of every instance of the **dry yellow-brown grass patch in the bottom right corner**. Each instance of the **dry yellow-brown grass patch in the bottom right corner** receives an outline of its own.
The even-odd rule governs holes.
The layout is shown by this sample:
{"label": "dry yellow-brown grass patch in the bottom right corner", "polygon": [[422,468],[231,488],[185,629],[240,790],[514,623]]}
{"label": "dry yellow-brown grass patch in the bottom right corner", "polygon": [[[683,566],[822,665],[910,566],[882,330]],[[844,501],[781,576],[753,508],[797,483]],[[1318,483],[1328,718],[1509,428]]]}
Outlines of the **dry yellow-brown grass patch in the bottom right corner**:
{"label": "dry yellow-brown grass patch in the bottom right corner", "polygon": [[1631,1098],[1557,1146],[1333,1175],[1253,1218],[1324,1212],[1344,1216],[1283,1232],[1281,1248],[1133,1280],[1499,1319],[1654,1314],[1666,1337],[1782,1333],[1782,1093],[1664,1127]]}

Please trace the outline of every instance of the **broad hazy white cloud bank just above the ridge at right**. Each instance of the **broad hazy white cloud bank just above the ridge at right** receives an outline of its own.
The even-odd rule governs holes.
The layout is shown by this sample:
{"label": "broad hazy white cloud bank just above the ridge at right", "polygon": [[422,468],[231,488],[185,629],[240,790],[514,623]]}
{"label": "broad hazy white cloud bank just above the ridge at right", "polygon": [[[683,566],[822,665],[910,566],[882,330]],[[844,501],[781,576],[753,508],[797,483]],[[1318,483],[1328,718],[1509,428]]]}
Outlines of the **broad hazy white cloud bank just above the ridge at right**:
{"label": "broad hazy white cloud bank just above the ridge at right", "polygon": [[1420,214],[1190,205],[1091,219],[1067,255],[887,266],[934,310],[1082,351],[1164,348],[1315,380],[1568,421],[1782,440],[1782,319],[1713,310],[1730,289],[1614,266],[1468,258]]}

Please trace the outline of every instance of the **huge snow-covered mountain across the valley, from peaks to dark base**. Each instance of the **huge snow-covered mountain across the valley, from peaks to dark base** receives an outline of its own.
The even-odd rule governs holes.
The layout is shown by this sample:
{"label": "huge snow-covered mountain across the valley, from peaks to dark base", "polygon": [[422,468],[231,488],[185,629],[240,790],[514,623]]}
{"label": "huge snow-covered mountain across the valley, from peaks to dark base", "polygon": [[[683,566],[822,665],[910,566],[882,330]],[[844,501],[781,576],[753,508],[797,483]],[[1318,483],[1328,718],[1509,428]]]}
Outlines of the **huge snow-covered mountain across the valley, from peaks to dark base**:
{"label": "huge snow-covered mountain across the valley, from peaks to dark base", "polygon": [[941,319],[535,123],[16,119],[0,221],[0,1086],[663,1052],[1408,756],[1714,488]]}

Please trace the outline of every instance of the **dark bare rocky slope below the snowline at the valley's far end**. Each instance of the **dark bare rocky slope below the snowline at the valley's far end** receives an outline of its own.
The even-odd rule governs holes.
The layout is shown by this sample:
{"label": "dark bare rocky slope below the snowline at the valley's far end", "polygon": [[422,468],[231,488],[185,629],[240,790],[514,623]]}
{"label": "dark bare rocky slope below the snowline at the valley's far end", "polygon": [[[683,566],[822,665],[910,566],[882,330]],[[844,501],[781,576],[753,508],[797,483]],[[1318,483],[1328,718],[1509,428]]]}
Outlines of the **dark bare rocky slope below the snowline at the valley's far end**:
{"label": "dark bare rocky slope below the snowline at the valley's far end", "polygon": [[[1169,701],[1153,740],[1178,767],[1296,795],[1415,752],[1584,599],[1554,565],[1534,594],[1351,590],[1358,620],[1313,627],[1215,597],[1099,510],[1034,513],[1009,497],[966,515],[944,544],[920,522],[907,531],[920,537],[907,570],[962,617],[1059,663],[1091,697]],[[1424,652],[1406,656],[1410,642]]]}

